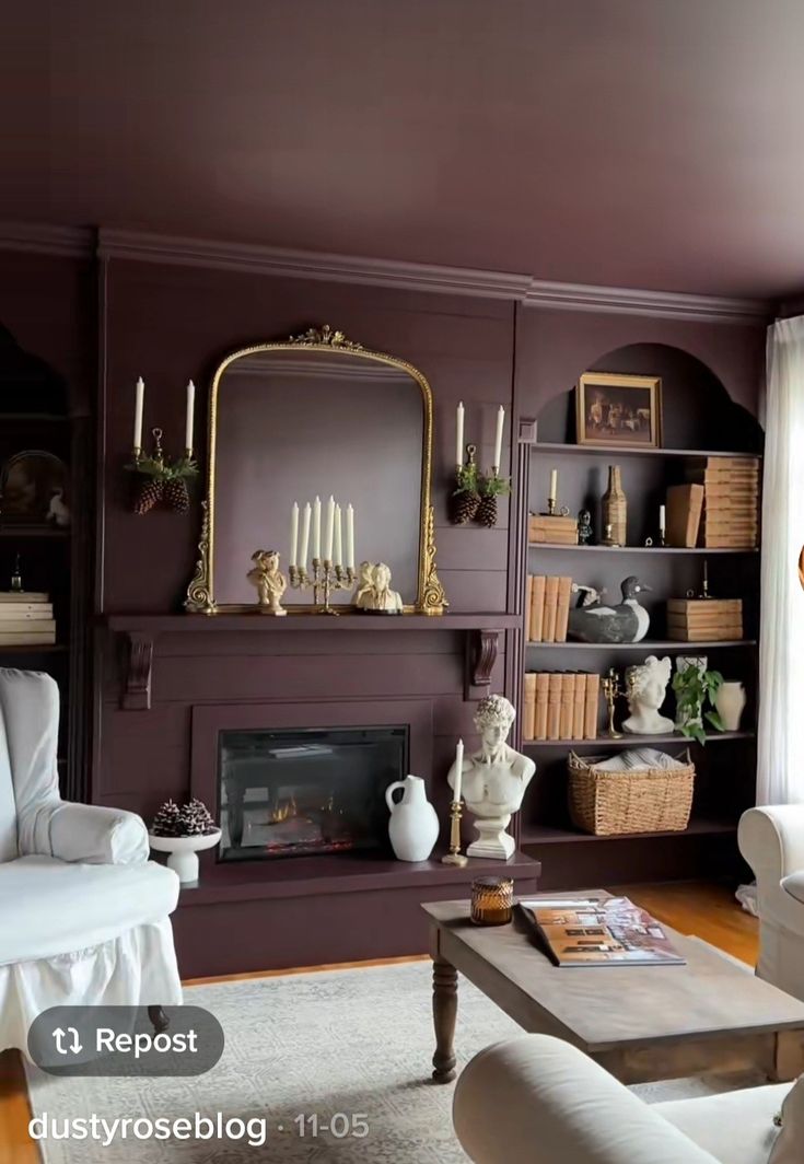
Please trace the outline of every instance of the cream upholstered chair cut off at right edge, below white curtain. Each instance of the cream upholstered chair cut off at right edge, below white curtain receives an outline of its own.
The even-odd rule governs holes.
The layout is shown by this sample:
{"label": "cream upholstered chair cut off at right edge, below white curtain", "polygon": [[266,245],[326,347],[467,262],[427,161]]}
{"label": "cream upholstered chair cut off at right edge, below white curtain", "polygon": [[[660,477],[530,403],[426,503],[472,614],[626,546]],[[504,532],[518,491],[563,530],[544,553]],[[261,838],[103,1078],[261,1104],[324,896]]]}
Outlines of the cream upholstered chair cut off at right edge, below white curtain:
{"label": "cream upholstered chair cut off at right edge, below white curtain", "polygon": [[804,804],[748,809],[738,839],[756,878],[756,973],[804,1000]]}

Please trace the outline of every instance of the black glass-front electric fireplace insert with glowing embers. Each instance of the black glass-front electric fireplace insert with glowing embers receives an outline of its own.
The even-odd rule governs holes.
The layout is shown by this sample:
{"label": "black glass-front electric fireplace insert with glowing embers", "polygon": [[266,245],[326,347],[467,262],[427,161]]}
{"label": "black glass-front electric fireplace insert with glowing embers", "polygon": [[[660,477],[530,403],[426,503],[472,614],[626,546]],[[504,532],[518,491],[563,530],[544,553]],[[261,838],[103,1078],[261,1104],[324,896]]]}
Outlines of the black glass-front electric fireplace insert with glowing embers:
{"label": "black glass-front electric fireplace insert with glowing embers", "polygon": [[408,769],[408,729],[226,730],[220,859],[387,850],[385,789]]}

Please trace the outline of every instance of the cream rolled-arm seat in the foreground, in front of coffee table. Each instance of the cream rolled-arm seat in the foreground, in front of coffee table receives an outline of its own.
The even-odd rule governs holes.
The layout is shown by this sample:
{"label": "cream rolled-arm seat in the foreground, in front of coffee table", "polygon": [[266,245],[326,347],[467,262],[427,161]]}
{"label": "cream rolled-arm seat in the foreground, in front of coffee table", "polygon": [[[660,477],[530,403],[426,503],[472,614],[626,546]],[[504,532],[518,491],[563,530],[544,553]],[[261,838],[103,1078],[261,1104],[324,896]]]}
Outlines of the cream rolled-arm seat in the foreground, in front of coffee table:
{"label": "cream rolled-arm seat in the foreground, in front of coffee table", "polygon": [[[783,1105],[780,1133],[774,1116]],[[476,1055],[458,1077],[453,1120],[475,1164],[804,1159],[804,1081],[648,1105],[583,1051],[548,1035],[522,1035]]]}

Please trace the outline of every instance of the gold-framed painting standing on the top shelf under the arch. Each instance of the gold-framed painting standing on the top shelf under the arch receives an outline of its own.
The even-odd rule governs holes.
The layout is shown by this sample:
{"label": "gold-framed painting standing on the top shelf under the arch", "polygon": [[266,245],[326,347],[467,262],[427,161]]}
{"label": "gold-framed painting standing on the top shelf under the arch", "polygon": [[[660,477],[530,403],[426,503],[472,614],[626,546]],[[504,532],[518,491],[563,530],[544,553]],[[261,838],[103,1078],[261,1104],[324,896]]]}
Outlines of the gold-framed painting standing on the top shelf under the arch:
{"label": "gold-framed painting standing on the top shelf under the arch", "polygon": [[661,376],[585,371],[575,390],[576,445],[662,447]]}

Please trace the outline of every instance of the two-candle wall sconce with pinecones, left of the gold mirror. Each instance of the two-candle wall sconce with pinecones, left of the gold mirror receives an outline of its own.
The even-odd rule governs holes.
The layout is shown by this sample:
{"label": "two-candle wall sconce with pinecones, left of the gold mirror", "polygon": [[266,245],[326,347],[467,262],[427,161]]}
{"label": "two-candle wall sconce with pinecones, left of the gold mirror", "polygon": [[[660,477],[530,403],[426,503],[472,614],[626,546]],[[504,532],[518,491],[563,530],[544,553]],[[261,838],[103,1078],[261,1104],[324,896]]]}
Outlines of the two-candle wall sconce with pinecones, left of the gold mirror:
{"label": "two-candle wall sconce with pinecones, left of the gold mirror", "polygon": [[135,389],[134,406],[134,447],[131,462],[126,468],[136,474],[134,512],[148,513],[156,505],[164,505],[177,513],[186,513],[190,509],[187,481],[198,475],[198,466],[193,461],[193,419],[195,406],[195,385],[187,384],[187,414],[185,424],[184,455],[175,461],[165,454],[162,447],[162,430],[151,428],[154,452],[145,454],[142,448],[142,414],[145,398],[145,384],[140,377]]}

